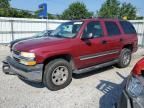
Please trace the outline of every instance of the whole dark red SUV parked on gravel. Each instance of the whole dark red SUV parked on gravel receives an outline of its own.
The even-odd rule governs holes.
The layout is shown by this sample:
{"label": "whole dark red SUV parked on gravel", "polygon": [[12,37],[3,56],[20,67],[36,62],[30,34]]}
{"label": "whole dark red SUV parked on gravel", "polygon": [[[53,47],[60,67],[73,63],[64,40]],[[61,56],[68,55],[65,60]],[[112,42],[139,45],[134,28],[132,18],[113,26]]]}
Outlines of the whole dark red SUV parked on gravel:
{"label": "whole dark red SUV parked on gravel", "polygon": [[72,73],[113,64],[128,66],[137,41],[134,27],[124,20],[69,21],[48,37],[16,43],[12,56],[3,62],[3,71],[59,90],[70,84]]}

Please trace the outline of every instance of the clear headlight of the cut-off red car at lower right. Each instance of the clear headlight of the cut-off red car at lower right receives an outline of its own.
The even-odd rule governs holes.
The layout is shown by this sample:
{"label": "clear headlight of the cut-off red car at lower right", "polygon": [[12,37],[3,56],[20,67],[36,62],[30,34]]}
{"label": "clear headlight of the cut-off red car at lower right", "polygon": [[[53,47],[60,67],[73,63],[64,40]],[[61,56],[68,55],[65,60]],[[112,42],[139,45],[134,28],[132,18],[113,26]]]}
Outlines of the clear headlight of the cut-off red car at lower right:
{"label": "clear headlight of the cut-off red car at lower right", "polygon": [[127,92],[132,97],[144,95],[144,87],[136,77],[131,77],[127,84]]}

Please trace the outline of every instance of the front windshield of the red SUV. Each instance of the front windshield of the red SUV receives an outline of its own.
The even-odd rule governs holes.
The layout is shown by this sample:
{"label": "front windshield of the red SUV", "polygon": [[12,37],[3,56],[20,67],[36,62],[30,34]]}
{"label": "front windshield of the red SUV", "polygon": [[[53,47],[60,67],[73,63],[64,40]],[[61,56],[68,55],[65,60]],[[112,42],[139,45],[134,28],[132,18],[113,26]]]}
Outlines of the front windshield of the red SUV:
{"label": "front windshield of the red SUV", "polygon": [[54,30],[50,36],[59,38],[72,38],[75,37],[80,30],[83,22],[66,22],[61,24],[56,30]]}

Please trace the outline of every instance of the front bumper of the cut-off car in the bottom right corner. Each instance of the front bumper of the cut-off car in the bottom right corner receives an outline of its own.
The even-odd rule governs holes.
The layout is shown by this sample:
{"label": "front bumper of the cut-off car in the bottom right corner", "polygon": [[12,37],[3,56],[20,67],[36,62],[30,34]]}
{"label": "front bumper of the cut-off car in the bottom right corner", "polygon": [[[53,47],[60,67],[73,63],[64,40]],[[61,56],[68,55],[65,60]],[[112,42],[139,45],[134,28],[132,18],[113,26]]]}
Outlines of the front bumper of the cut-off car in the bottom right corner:
{"label": "front bumper of the cut-off car in the bottom right corner", "polygon": [[119,103],[114,108],[144,108],[143,98],[131,98],[124,90]]}

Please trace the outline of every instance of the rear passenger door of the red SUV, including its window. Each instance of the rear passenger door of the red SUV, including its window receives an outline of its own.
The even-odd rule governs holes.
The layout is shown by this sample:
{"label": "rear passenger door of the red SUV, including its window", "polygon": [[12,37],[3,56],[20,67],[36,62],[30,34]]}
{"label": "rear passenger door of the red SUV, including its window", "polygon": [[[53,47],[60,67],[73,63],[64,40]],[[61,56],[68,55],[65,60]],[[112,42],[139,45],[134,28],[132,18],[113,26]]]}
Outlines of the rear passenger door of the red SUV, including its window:
{"label": "rear passenger door of the red SUV, including its window", "polygon": [[106,28],[106,42],[109,55],[109,60],[113,60],[119,57],[120,50],[122,47],[122,33],[118,22],[116,21],[105,21]]}

